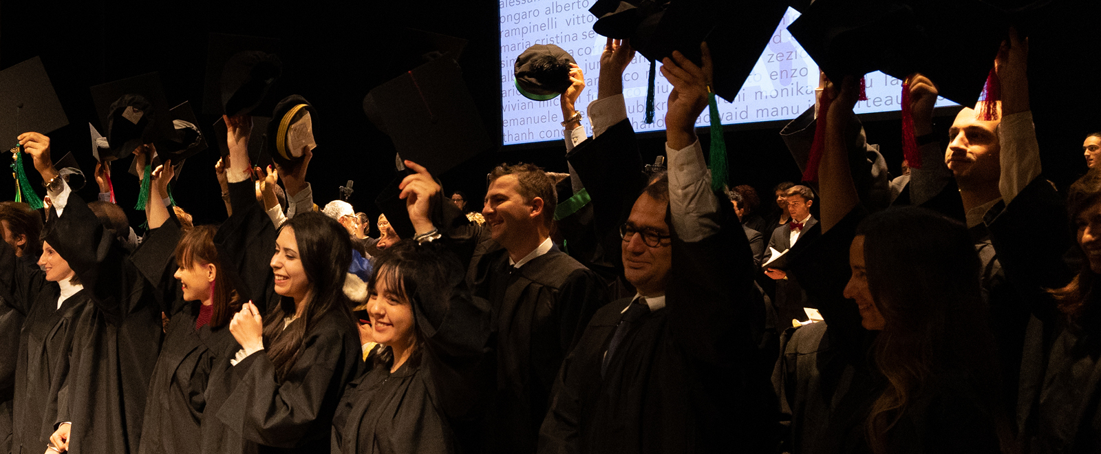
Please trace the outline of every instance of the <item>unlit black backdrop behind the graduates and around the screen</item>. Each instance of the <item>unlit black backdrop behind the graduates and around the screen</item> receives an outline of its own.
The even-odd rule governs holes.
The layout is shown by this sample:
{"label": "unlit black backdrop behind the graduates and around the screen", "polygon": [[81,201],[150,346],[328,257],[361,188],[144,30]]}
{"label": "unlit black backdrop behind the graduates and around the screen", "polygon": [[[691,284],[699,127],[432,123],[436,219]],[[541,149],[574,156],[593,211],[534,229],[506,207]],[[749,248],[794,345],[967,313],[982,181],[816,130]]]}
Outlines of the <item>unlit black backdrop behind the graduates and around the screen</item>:
{"label": "unlit black backdrop behind the graduates and around the screen", "polygon": [[[1005,2],[1002,2],[1005,3]],[[1081,156],[1084,137],[1101,130],[1101,40],[1097,23],[1101,2],[1055,1],[1048,12],[1029,25],[1029,79],[1037,137],[1046,176],[1065,188],[1086,171]],[[1013,4],[1010,4],[1013,6]],[[81,191],[96,197],[87,122],[96,123],[88,87],[156,71],[172,106],[190,100],[201,111],[206,71],[207,33],[235,33],[283,40],[280,57],[283,77],[279,98],[306,97],[318,110],[315,120],[318,152],[309,166],[314,201],[324,205],[338,196],[338,186],[355,180],[351,203],[371,214],[374,195],[393,177],[394,148],[389,138],[367,120],[363,96],[417,65],[399,30],[421,30],[469,40],[459,64],[478,105],[487,133],[501,141],[498,4],[493,1],[393,2],[83,2],[0,0],[0,67],[42,57],[69,126],[51,134],[55,159],[73,151],[89,182]],[[950,13],[950,12],[946,12]],[[982,20],[982,18],[975,18]],[[968,33],[961,30],[960,33]],[[587,89],[595,90],[596,87]],[[208,137],[216,118],[199,115]],[[947,138],[951,117],[937,120]],[[728,128],[726,140],[732,184],[751,184],[767,204],[771,187],[796,181],[798,169],[777,134],[782,125]],[[865,119],[871,143],[881,144],[893,172],[901,162],[897,114]],[[708,143],[706,130],[700,139]],[[8,138],[14,145],[14,138]],[[641,140],[645,161],[664,152],[662,134]],[[7,150],[9,145],[4,145]],[[193,213],[197,224],[226,217],[214,175],[216,148],[187,160],[174,191],[176,202]],[[477,158],[437,175],[445,191],[461,190],[480,208],[486,174],[501,162],[534,162],[549,171],[565,172],[560,141],[536,147],[486,150]],[[9,162],[9,161],[4,161]],[[129,165],[129,159],[122,163]],[[137,198],[138,179],[116,165],[113,181],[120,204]],[[28,165],[32,183],[39,179]],[[7,174],[7,172],[4,172]],[[7,176],[0,177],[7,180]],[[0,184],[0,199],[13,197],[13,183]],[[40,190],[40,195],[43,192]],[[764,209],[770,209],[766,205]],[[141,213],[132,215],[140,224]],[[374,234],[377,235],[377,233]]]}

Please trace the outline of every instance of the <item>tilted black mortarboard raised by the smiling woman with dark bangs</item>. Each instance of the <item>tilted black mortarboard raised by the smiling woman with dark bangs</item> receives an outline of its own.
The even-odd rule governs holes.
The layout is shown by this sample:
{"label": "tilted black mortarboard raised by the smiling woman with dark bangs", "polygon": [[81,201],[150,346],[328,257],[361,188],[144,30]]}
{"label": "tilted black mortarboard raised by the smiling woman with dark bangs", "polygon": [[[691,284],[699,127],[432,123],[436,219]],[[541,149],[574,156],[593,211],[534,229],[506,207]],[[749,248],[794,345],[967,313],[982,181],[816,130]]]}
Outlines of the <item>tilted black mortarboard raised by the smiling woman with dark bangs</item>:
{"label": "tilted black mortarboard raised by the smiling woman with dark bangs", "polygon": [[491,143],[462,71],[450,55],[371,89],[363,111],[403,159],[439,175]]}

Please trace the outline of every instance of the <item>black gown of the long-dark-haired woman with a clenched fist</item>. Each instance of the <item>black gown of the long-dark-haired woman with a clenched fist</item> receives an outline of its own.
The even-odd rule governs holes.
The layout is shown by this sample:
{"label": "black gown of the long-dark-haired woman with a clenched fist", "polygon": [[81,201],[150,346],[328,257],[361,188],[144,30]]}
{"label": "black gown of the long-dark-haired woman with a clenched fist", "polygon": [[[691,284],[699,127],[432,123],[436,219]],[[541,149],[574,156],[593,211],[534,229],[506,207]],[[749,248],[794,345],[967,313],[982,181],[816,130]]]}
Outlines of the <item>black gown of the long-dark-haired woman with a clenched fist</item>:
{"label": "black gown of the long-dark-haired woman with a clenched fist", "polygon": [[[239,293],[274,304],[279,299],[268,263],[275,230],[255,202],[251,182],[229,186],[233,215],[215,236],[219,259]],[[225,355],[228,360],[236,352]],[[333,414],[345,387],[361,370],[361,355],[355,322],[334,311],[307,329],[302,352],[282,381],[264,352],[229,368],[215,367],[205,397],[201,452],[327,452]]]}

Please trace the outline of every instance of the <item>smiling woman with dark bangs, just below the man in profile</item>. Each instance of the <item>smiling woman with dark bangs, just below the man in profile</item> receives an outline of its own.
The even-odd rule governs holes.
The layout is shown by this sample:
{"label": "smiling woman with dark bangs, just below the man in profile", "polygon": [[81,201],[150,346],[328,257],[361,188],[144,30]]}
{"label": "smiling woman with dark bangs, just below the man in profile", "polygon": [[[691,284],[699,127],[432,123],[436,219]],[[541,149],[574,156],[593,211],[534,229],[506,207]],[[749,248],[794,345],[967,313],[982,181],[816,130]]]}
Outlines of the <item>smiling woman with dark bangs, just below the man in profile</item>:
{"label": "smiling woman with dark bangs, just below the man in profile", "polygon": [[472,366],[489,304],[471,298],[461,263],[440,245],[399,241],[377,267],[363,309],[385,347],[341,399],[334,452],[461,452],[455,425],[477,408]]}

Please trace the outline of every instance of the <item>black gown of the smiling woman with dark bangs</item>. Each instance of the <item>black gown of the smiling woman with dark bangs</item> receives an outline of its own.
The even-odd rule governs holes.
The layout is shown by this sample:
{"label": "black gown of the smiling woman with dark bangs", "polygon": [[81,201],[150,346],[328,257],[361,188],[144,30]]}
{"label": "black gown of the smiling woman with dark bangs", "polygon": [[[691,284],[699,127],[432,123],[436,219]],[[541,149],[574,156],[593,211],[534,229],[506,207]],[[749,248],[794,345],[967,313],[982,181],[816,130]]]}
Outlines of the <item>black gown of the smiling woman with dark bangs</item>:
{"label": "black gown of the smiling woman with dark bangs", "polygon": [[477,363],[487,353],[489,302],[456,289],[450,302],[433,303],[439,307],[415,303],[417,326],[428,326],[421,329],[427,337],[421,352],[393,372],[375,366],[348,386],[333,419],[333,452],[475,452],[456,426],[478,417]]}

